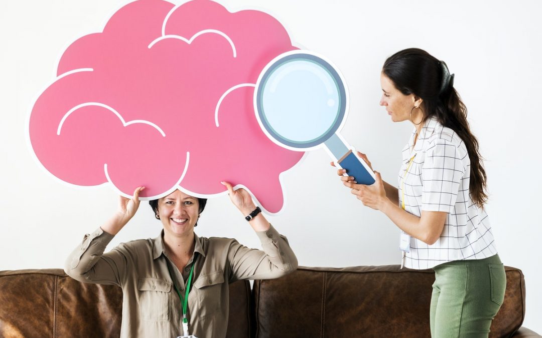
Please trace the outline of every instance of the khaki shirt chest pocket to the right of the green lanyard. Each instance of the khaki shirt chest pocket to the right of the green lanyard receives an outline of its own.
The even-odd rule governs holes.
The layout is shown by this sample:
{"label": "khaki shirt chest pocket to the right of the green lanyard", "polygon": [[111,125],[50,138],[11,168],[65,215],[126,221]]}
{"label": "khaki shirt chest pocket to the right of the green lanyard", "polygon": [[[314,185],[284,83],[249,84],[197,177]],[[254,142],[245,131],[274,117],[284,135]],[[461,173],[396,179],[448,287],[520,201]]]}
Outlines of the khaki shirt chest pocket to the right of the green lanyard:
{"label": "khaki shirt chest pocket to the right of the green lanyard", "polygon": [[224,289],[224,273],[217,271],[199,275],[194,283],[198,295],[198,316],[200,319],[214,315],[220,309]]}

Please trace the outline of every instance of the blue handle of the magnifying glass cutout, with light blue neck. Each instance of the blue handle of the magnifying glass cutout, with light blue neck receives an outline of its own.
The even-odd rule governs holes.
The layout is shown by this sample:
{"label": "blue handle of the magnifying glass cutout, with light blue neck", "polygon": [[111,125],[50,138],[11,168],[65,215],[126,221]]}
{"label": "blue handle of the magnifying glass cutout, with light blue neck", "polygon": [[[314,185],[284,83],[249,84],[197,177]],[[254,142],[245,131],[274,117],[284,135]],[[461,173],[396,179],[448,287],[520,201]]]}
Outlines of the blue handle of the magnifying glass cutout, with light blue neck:
{"label": "blue handle of the magnifying glass cutout, with light blue neck", "polygon": [[375,183],[375,176],[369,166],[362,163],[363,160],[360,160],[351,149],[348,149],[337,134],[333,134],[324,144],[337,158],[340,167],[346,169],[346,173],[353,176],[358,184],[371,185]]}

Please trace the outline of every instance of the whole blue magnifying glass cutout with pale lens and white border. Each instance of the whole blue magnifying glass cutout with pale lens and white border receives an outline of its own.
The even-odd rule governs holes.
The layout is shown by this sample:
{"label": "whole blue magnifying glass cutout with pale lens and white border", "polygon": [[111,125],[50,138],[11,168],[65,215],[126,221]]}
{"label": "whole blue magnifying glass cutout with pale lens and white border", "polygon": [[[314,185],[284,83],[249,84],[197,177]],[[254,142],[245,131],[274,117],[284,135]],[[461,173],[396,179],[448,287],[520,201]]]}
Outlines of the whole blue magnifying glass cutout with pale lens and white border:
{"label": "whole blue magnifying glass cutout with pale lens and white border", "polygon": [[343,77],[313,52],[293,50],[275,57],[256,82],[254,111],[271,141],[294,151],[325,147],[346,176],[370,185],[375,174],[339,134],[347,110]]}

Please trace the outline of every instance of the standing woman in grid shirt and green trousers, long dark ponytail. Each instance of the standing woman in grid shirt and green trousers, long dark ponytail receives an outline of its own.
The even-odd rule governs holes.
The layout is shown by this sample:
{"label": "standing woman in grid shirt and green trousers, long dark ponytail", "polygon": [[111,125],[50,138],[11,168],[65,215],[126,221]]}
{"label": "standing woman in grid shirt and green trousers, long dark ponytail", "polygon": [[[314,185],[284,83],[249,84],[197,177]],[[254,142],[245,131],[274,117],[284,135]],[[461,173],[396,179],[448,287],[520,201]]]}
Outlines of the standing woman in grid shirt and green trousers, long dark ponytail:
{"label": "standing woman in grid shirt and green trousers, long dark ponytail", "polygon": [[431,336],[487,337],[504,300],[506,275],[483,209],[486,172],[478,141],[454,75],[443,61],[410,48],[386,59],[380,84],[380,105],[391,120],[414,125],[398,189],[376,172],[372,185],[356,184],[351,176],[341,180],[402,230],[402,264],[434,269]]}

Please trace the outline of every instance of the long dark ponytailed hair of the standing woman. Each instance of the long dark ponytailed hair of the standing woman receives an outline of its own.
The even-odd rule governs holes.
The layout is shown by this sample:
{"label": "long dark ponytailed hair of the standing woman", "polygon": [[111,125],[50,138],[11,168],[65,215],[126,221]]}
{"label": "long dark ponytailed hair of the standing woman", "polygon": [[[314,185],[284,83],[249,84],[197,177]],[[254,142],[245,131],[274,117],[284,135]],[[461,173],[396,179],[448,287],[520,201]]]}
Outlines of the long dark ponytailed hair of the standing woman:
{"label": "long dark ponytailed hair of the standing woman", "polygon": [[[444,65],[444,67],[443,67]],[[382,72],[404,95],[414,94],[423,102],[423,120],[436,116],[444,127],[454,130],[465,143],[470,158],[470,197],[477,206],[487,202],[486,171],[483,168],[478,140],[470,132],[467,108],[459,94],[447,80],[443,68],[446,63],[438,61],[427,51],[409,48],[396,52],[384,62]],[[449,77],[448,77],[449,78]]]}

